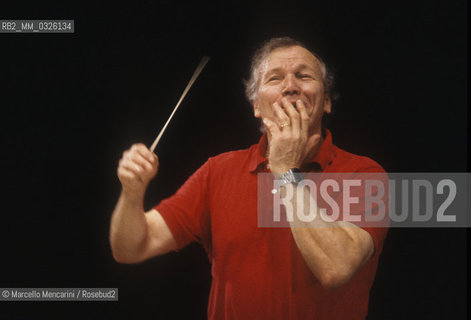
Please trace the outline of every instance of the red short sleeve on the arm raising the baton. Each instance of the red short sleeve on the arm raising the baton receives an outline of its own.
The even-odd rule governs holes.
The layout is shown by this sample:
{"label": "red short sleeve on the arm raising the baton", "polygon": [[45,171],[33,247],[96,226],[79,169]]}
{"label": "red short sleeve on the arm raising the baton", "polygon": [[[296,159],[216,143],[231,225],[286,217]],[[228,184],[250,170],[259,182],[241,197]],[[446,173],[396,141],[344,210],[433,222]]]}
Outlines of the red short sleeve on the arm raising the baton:
{"label": "red short sleeve on the arm raising the baton", "polygon": [[201,166],[171,197],[154,207],[167,223],[177,250],[191,242],[209,243],[209,162]]}

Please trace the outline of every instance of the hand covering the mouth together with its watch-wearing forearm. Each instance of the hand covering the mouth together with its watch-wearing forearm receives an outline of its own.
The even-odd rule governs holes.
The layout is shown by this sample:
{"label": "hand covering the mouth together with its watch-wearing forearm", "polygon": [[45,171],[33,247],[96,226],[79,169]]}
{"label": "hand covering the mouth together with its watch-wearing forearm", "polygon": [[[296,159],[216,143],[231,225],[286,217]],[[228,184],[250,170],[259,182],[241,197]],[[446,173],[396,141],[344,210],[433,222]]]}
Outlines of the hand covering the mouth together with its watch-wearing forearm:
{"label": "hand covering the mouth together with its watch-wearing forearm", "polygon": [[[287,170],[310,162],[322,144],[321,127],[311,122],[305,102],[298,99],[296,108],[288,97],[283,97],[281,102],[283,108],[278,102],[273,103],[274,117],[263,118],[268,131],[268,162],[277,179]],[[324,110],[330,110],[330,100],[326,99],[325,103]],[[293,186],[281,187],[281,193]],[[296,207],[298,192],[303,193],[302,208]],[[294,218],[291,223],[294,240],[307,265],[325,287],[338,287],[348,281],[371,256],[374,246],[370,235],[348,222],[323,221],[307,188],[294,188],[286,201],[291,202],[286,214]],[[316,217],[306,223],[298,218],[303,213],[307,216],[315,213]]]}

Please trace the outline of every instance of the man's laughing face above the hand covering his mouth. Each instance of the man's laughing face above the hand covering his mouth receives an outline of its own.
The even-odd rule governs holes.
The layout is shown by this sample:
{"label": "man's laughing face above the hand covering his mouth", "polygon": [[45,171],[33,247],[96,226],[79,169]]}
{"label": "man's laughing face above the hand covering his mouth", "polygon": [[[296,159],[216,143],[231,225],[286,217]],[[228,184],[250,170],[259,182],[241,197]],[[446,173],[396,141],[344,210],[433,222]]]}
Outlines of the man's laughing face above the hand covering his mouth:
{"label": "man's laughing face above the hand covering his mouth", "polygon": [[304,102],[310,116],[309,132],[320,133],[321,120],[331,111],[331,101],[325,92],[320,63],[308,50],[293,46],[273,50],[260,71],[258,97],[254,102],[256,118],[276,121],[273,103],[282,106],[286,97],[296,107]]}

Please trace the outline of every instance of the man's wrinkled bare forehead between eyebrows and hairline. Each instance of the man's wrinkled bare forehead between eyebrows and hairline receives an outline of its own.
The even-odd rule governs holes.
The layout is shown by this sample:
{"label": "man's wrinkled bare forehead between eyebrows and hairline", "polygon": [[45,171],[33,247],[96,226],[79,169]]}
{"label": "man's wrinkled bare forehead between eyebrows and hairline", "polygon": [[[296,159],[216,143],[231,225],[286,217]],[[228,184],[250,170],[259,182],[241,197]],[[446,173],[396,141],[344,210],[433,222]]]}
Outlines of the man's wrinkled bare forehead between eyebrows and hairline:
{"label": "man's wrinkled bare forehead between eyebrows and hairline", "polygon": [[305,66],[320,72],[319,60],[307,49],[299,46],[278,48],[273,50],[264,63],[262,73],[275,68],[298,68]]}

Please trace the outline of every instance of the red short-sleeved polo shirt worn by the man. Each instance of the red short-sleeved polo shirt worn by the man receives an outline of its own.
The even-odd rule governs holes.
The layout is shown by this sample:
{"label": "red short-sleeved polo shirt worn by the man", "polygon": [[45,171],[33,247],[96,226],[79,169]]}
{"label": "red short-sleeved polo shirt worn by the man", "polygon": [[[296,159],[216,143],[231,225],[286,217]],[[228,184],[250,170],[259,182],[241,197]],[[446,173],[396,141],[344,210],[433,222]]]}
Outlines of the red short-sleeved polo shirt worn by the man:
{"label": "red short-sleeved polo shirt worn by the man", "polygon": [[[289,228],[257,227],[257,172],[266,171],[266,138],[210,158],[155,207],[178,248],[200,242],[212,263],[209,319],[365,319],[387,228],[364,228],[375,253],[342,287],[324,289]],[[332,144],[327,131],[312,171],[382,172],[373,160]]]}

